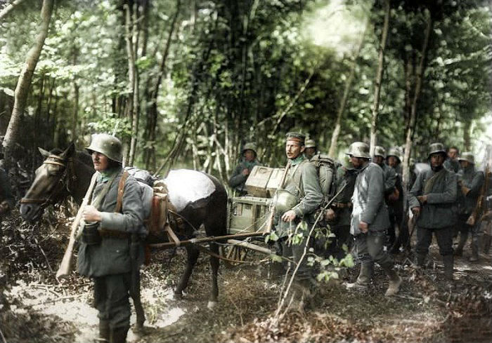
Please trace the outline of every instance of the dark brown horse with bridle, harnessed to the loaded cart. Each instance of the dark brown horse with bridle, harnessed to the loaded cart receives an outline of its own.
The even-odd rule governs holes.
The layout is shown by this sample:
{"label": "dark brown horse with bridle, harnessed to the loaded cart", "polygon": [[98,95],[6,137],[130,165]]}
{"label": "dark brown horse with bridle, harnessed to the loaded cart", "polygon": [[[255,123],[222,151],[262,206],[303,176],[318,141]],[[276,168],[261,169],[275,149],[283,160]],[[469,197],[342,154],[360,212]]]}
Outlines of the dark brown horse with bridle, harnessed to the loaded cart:
{"label": "dark brown horse with bridle, harnessed to the loaded cart", "polygon": [[[63,201],[67,196],[72,196],[79,205],[89,188],[92,174],[94,173],[91,156],[86,152],[77,152],[75,144],[72,142],[67,149],[53,149],[48,152],[39,148],[39,152],[45,160],[37,168],[34,181],[30,189],[27,190],[25,197],[20,201],[20,215],[28,222],[34,222],[41,217],[44,209]],[[200,173],[200,172],[196,172]],[[196,228],[205,227],[207,236],[226,235],[227,217],[227,192],[224,186],[216,177],[205,174],[214,184],[215,190],[205,199],[200,199],[193,206],[186,206],[177,211],[175,219],[181,220],[183,230],[180,230],[181,237],[186,239],[194,238],[197,234]],[[183,180],[186,183],[186,180]],[[171,196],[171,194],[169,194]],[[163,243],[167,235],[159,235]],[[155,240],[155,237],[154,237]],[[153,241],[152,243],[157,243]],[[210,266],[212,267],[212,292],[209,296],[207,307],[212,309],[217,303],[219,288],[217,285],[217,274],[219,271],[219,246],[216,243],[210,244]],[[186,289],[188,281],[195,266],[200,251],[198,247],[191,244],[186,246],[187,263],[186,269],[181,276],[181,281],[174,290],[176,298],[181,299],[183,290]],[[135,299],[134,299],[135,303]],[[144,318],[138,318],[137,323],[143,325]],[[143,315],[143,310],[142,315]]]}

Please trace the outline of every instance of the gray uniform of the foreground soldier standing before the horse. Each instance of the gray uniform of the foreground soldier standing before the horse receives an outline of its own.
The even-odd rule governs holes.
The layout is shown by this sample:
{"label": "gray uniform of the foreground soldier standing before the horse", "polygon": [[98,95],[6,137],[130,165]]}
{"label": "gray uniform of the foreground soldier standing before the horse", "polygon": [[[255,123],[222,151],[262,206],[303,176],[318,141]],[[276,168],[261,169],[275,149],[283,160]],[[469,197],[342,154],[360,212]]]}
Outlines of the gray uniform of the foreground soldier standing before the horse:
{"label": "gray uniform of the foreground soldier standing before the horse", "polygon": [[[112,175],[117,175],[112,180]],[[88,245],[82,241],[77,268],[79,274],[94,279],[94,307],[101,321],[111,329],[128,328],[130,321],[129,291],[131,287],[131,234],[145,234],[143,208],[137,181],[129,176],[124,184],[121,213],[115,213],[118,182],[122,169],[108,170],[97,180],[93,199],[112,182],[108,193],[98,206],[102,220],[99,224],[101,243]],[[143,247],[140,246],[140,256]]]}

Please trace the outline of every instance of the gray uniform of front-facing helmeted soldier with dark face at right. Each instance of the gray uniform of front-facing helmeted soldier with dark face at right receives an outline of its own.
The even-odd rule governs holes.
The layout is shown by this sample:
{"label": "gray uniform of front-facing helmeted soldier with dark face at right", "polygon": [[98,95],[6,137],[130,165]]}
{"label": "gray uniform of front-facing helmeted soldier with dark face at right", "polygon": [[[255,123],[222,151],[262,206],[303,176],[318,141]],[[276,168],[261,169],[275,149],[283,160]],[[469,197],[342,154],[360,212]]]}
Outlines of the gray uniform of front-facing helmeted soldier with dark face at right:
{"label": "gray uniform of front-facing helmeted soldier with dark face at right", "polygon": [[[417,258],[420,258],[419,263],[423,263],[429,251],[433,233],[437,238],[441,255],[453,254],[452,227],[456,221],[456,183],[456,174],[446,168],[442,168],[439,172],[426,170],[417,176],[409,192],[410,208],[420,207],[420,216],[416,223],[416,253]],[[427,195],[427,202],[422,206],[417,199],[417,196],[421,195]]]}

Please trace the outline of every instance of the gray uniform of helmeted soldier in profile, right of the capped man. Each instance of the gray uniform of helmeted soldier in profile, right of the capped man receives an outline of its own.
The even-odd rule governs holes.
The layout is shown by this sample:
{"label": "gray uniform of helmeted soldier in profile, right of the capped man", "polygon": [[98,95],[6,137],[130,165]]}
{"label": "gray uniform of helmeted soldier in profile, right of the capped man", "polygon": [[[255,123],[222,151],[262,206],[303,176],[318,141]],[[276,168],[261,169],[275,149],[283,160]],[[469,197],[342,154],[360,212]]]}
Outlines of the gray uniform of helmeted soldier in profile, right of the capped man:
{"label": "gray uniform of helmeted soldier in profile, right of the capped man", "polygon": [[[389,227],[388,209],[384,203],[384,176],[382,168],[370,162],[357,175],[352,210],[350,232],[356,238],[356,254],[368,278],[373,273],[373,263],[377,262],[388,271],[393,267],[391,257],[384,253],[384,231]],[[368,233],[361,233],[360,222],[368,223]],[[364,271],[366,273],[366,271]],[[361,276],[359,276],[361,280]],[[366,283],[366,279],[358,281]]]}

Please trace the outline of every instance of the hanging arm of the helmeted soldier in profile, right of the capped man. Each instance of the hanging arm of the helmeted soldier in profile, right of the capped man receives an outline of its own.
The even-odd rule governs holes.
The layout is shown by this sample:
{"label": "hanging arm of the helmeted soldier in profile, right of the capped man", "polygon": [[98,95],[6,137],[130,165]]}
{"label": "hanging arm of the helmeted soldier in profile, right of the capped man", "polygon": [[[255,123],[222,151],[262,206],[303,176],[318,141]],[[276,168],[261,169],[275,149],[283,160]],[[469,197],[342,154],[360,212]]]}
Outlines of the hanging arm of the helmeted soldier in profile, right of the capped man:
{"label": "hanging arm of the helmeted soldier in profile, right of the capped man", "polygon": [[[379,169],[379,170],[378,170]],[[380,168],[371,168],[368,173],[368,198],[367,206],[361,213],[361,222],[368,224],[374,222],[377,212],[383,206],[384,201],[384,175]]]}

